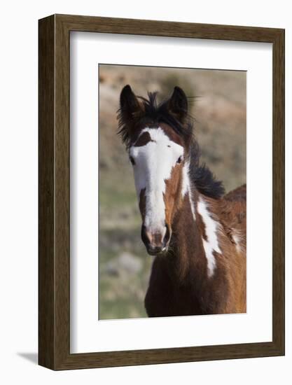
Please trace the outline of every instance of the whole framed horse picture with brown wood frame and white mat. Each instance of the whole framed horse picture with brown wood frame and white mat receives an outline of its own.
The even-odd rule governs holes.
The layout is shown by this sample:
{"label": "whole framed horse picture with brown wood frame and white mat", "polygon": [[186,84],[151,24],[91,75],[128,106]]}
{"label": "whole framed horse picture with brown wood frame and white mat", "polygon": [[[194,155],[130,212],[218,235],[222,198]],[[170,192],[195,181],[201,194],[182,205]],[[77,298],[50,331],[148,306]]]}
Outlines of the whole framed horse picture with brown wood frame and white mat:
{"label": "whole framed horse picture with brown wood frame and white mat", "polygon": [[284,355],[284,29],[39,20],[39,365]]}

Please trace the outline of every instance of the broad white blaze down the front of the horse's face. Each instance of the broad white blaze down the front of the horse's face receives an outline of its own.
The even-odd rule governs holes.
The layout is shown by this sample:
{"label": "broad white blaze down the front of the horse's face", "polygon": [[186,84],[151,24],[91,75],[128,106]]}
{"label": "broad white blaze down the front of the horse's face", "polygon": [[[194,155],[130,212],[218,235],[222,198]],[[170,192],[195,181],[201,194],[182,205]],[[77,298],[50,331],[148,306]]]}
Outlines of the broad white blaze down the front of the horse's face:
{"label": "broad white blaze down the front of the horse's face", "polygon": [[[148,231],[165,231],[165,181],[170,178],[172,167],[183,156],[183,146],[171,141],[162,128],[145,128],[151,137],[144,146],[132,146],[130,156],[134,160],[134,181],[138,200],[145,189],[146,213],[144,225]],[[141,136],[140,134],[140,136]]]}

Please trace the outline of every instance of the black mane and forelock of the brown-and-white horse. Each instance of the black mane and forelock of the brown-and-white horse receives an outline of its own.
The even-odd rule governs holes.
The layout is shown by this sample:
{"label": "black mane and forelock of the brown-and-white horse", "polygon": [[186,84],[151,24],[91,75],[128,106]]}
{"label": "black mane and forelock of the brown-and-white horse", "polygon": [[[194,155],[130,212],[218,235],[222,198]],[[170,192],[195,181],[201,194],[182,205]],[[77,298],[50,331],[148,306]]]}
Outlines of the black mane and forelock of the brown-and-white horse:
{"label": "black mane and forelock of the brown-and-white horse", "polygon": [[[152,125],[158,127],[159,123],[166,123],[176,134],[183,139],[190,139],[190,180],[194,183],[195,188],[207,197],[218,199],[225,193],[222,181],[217,181],[214,174],[209,170],[207,165],[200,165],[200,148],[193,134],[193,118],[186,112],[186,121],[181,124],[171,113],[169,113],[167,102],[158,103],[157,92],[148,92],[148,99],[137,97],[143,104],[143,116],[138,118],[136,125]],[[127,130],[127,122],[123,119],[123,109],[118,110],[118,134],[127,146],[130,146],[130,134]]]}

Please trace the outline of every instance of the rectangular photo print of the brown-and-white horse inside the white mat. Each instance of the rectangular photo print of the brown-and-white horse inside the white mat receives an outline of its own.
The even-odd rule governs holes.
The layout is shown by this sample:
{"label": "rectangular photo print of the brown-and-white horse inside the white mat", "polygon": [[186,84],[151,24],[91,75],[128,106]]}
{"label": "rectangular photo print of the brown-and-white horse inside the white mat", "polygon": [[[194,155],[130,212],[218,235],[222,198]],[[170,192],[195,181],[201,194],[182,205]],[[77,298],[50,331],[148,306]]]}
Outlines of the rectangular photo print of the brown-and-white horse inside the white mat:
{"label": "rectangular photo print of the brown-and-white horse inside the white mat", "polygon": [[99,64],[99,319],[246,312],[246,71]]}

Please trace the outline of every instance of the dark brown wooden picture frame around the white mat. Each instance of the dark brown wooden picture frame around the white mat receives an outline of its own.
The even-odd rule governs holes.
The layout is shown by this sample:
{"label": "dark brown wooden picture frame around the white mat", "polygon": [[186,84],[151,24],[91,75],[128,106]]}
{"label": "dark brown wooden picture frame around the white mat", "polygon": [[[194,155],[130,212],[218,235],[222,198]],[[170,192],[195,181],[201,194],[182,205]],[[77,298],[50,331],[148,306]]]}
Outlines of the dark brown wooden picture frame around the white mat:
{"label": "dark brown wooden picture frame around the white mat", "polygon": [[[272,342],[70,353],[70,31],[272,43]],[[77,15],[39,20],[39,365],[53,370],[284,355],[284,29]]]}

